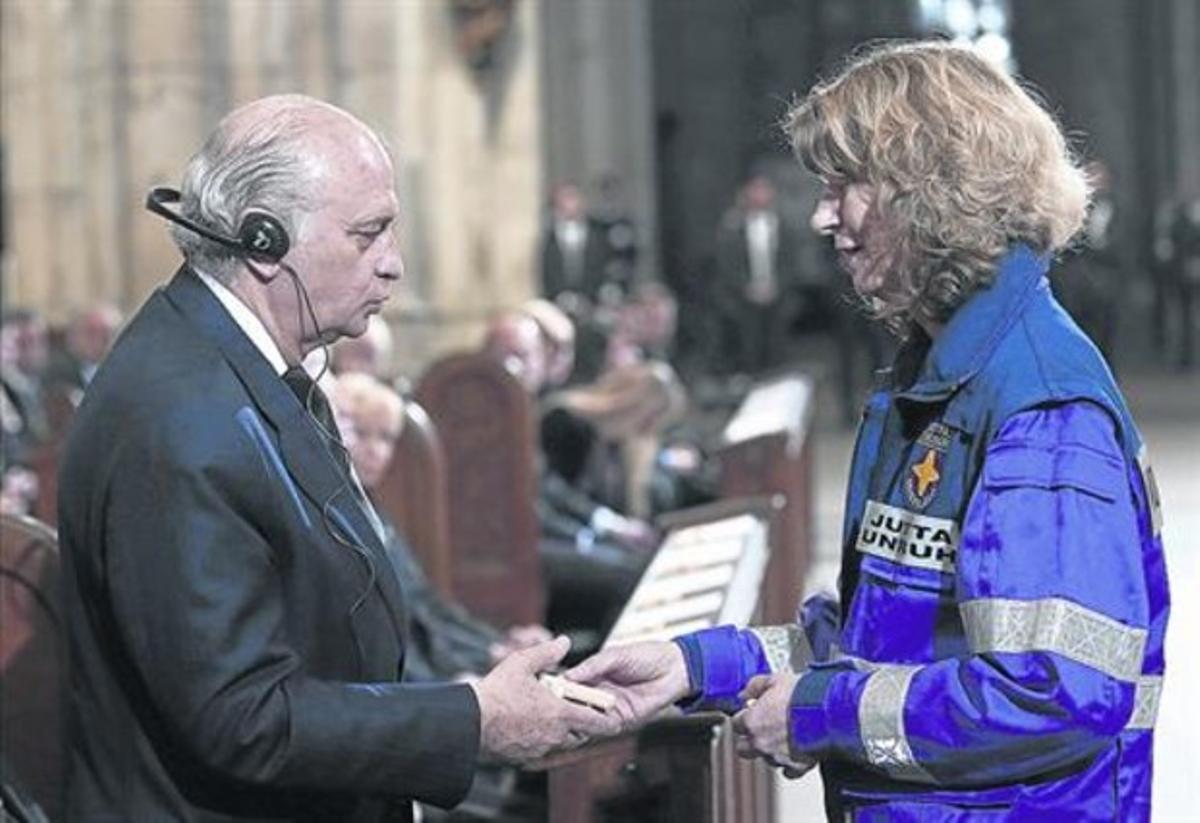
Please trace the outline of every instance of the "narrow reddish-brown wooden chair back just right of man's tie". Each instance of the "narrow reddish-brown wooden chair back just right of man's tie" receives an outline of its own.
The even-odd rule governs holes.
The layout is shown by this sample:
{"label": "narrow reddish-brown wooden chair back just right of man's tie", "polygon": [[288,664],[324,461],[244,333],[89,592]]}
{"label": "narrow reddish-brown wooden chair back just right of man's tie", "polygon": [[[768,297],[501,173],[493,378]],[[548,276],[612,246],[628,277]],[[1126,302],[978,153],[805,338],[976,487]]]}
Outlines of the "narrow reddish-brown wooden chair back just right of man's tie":
{"label": "narrow reddish-brown wooden chair back just right of man's tie", "polygon": [[408,539],[426,577],[443,594],[454,589],[446,457],[433,420],[404,402],[404,428],[374,500]]}

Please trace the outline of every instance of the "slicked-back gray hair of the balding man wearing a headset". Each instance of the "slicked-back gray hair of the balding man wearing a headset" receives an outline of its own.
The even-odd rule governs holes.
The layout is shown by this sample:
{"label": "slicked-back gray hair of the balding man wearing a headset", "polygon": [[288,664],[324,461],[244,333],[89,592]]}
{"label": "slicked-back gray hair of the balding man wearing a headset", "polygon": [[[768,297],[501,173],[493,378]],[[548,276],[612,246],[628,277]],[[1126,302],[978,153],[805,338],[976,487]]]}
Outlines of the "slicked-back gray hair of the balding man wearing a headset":
{"label": "slicked-back gray hair of the balding man wearing a headset", "polygon": [[[304,104],[286,106],[248,128],[222,122],[187,164],[182,215],[235,238],[247,210],[265,211],[294,244],[305,216],[316,208],[313,190],[322,168],[307,142],[310,126]],[[172,236],[200,271],[228,283],[239,270],[241,258],[234,250],[181,226],[172,227]]]}

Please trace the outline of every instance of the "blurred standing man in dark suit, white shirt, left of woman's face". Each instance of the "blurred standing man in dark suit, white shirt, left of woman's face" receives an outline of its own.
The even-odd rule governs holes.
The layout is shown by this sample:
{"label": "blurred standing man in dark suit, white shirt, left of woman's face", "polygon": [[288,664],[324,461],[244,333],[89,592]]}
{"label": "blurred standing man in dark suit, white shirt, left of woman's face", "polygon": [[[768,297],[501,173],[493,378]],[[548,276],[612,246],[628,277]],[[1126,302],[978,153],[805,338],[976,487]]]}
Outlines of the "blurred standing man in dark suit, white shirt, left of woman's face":
{"label": "blurred standing man in dark suit, white shirt, left of woman's face", "polygon": [[714,293],[727,371],[755,374],[782,362],[798,298],[796,245],[775,208],[775,187],[750,178],[716,235]]}

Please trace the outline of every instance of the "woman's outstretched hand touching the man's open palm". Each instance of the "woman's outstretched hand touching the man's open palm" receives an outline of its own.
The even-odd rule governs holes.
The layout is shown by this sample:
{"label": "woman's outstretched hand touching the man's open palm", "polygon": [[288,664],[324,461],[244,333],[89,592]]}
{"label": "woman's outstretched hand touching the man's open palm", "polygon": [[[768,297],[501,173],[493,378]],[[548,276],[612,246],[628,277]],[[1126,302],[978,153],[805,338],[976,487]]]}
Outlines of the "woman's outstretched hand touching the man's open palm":
{"label": "woman's outstretched hand touching the man's open palm", "polygon": [[617,705],[608,714],[626,731],[683,699],[690,690],[683,650],[667,641],[606,649],[564,677],[612,693]]}

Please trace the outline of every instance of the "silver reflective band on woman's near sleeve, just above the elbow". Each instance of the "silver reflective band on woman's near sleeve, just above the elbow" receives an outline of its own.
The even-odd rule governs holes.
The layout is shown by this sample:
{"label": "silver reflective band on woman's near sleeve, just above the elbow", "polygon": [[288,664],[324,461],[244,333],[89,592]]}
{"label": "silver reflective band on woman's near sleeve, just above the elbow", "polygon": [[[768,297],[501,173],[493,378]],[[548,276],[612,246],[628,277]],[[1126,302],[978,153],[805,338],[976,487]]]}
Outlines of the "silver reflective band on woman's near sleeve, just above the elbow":
{"label": "silver reflective band on woman's near sleeve, just above the elbow", "polygon": [[968,600],[959,609],[974,654],[1055,651],[1118,680],[1141,673],[1146,630],[1069,600]]}

